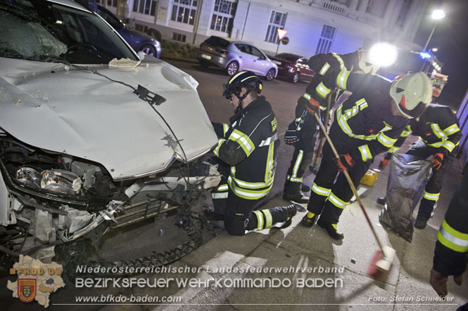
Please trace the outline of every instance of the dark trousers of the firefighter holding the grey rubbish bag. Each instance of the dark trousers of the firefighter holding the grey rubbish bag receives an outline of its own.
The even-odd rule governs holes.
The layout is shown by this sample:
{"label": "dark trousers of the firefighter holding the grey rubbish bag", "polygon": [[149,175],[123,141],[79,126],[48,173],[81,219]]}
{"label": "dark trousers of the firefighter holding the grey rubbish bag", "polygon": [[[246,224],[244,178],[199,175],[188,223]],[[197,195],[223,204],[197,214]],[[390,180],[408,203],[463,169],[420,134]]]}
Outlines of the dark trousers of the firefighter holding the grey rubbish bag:
{"label": "dark trousers of the firefighter holding the grey rubbish bag", "polygon": [[[424,141],[418,139],[413,143],[410,149],[407,150],[406,154],[414,155],[422,159],[432,157],[439,151],[439,148],[431,147],[424,143]],[[421,204],[419,204],[419,211],[417,217],[429,218],[434,210],[434,206],[438,201],[438,197],[441,194],[441,188],[443,185],[444,172],[450,170],[453,164],[453,153],[448,154],[444,157],[443,165],[438,170],[431,169],[429,179],[427,180],[426,187],[424,187],[424,194],[422,195]]]}

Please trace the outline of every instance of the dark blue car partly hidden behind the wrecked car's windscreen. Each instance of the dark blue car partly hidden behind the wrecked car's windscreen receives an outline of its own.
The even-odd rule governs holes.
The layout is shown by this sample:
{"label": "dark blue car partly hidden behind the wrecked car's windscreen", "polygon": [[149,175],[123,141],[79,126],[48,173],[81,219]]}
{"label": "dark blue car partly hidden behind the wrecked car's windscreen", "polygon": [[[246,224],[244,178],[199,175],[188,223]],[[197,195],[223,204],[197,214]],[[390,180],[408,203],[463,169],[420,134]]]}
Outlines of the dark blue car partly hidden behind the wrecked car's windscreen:
{"label": "dark blue car partly hidden behind the wrecked car's windscreen", "polygon": [[161,44],[158,40],[149,37],[144,32],[129,29],[117,16],[103,6],[98,6],[96,13],[106,20],[127,43],[137,52],[159,58],[161,55]]}

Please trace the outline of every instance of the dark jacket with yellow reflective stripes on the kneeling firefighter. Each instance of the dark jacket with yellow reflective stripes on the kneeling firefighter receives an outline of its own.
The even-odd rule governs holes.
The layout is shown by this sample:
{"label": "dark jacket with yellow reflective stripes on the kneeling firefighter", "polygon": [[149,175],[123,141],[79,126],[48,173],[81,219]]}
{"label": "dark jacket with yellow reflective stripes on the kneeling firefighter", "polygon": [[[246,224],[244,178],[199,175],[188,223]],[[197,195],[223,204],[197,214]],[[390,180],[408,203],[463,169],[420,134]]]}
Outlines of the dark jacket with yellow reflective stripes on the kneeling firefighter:
{"label": "dark jacket with yellow reflective stripes on the kneeling firefighter", "polygon": [[227,184],[238,197],[265,197],[273,185],[279,149],[272,107],[260,96],[229,121],[231,126],[213,124],[219,138],[213,153],[230,166]]}

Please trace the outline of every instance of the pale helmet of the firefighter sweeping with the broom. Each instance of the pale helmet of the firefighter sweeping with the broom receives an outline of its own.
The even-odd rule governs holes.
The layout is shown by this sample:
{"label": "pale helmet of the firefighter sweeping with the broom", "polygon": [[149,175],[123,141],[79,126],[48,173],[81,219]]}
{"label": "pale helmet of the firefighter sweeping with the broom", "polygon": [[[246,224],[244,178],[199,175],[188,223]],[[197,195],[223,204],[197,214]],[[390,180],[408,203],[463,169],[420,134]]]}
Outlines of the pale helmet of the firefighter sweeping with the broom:
{"label": "pale helmet of the firefighter sweeping with the broom", "polygon": [[405,117],[417,118],[431,103],[431,80],[424,72],[402,74],[392,82],[390,96]]}

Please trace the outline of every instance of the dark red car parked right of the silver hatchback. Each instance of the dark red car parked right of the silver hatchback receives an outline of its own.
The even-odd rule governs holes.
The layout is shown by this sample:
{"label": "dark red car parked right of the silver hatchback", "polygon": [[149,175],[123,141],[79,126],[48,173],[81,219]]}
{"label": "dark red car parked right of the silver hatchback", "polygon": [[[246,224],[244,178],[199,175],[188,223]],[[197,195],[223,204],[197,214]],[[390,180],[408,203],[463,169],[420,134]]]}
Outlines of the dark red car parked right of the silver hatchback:
{"label": "dark red car parked right of the silver hatchback", "polygon": [[278,65],[278,77],[290,79],[293,83],[299,80],[310,82],[315,72],[309,68],[308,58],[291,54],[280,53],[272,57]]}

